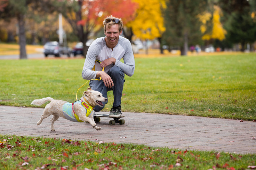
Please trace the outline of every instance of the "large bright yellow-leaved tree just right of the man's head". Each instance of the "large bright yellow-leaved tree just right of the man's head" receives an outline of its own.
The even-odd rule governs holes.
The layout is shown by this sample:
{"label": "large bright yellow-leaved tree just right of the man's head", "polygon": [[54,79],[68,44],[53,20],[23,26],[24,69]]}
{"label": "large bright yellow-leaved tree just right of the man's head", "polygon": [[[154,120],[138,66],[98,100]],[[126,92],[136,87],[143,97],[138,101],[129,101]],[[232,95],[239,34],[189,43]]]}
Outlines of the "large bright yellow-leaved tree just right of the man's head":
{"label": "large bright yellow-leaved tree just right of the man's head", "polygon": [[133,34],[142,40],[152,40],[162,36],[165,31],[162,10],[166,8],[164,0],[133,0],[138,4],[135,19],[127,23]]}

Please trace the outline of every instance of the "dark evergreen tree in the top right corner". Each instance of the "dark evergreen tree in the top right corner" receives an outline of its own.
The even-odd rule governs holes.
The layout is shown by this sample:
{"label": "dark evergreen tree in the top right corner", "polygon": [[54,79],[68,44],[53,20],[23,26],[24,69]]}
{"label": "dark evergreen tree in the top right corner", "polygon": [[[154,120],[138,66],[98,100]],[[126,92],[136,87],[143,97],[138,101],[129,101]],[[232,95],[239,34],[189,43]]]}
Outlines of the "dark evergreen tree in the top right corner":
{"label": "dark evergreen tree in the top right corner", "polygon": [[224,13],[227,42],[240,43],[244,51],[247,43],[256,39],[256,3],[253,0],[221,0],[219,5]]}

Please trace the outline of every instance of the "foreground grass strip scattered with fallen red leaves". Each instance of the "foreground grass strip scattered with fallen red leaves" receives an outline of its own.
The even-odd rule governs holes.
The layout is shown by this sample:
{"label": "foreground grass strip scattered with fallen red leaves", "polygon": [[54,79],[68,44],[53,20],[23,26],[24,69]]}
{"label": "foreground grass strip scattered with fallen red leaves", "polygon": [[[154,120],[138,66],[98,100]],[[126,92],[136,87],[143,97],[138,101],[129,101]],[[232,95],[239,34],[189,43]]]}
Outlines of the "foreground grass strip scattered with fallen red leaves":
{"label": "foreground grass strip scattered with fallen red leaves", "polygon": [[246,169],[255,154],[181,151],[145,145],[0,135],[0,168],[9,169]]}

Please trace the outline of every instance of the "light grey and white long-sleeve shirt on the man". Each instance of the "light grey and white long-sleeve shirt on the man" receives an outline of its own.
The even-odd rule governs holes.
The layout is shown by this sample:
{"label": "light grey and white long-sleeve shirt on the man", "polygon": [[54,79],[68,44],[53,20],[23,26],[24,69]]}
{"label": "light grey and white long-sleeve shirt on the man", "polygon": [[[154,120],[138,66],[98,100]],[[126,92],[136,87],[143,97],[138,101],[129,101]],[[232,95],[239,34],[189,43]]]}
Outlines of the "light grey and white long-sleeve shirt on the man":
{"label": "light grey and white long-sleeve shirt on the man", "polygon": [[[134,56],[132,52],[132,45],[128,39],[122,36],[119,36],[118,43],[116,47],[113,48],[113,51],[111,48],[108,48],[108,46],[106,45],[105,37],[97,38],[92,42],[85,58],[82,77],[86,80],[91,80],[93,78],[96,78],[97,72],[101,71],[102,68],[100,67],[100,63],[95,61],[96,60],[103,61],[110,57],[116,58],[116,63],[115,65],[111,64],[106,68],[104,68],[104,71],[107,74],[111,67],[117,66],[124,71],[124,74],[128,76],[133,75],[135,62],[134,62]],[[120,61],[122,58],[124,58],[124,63]],[[95,71],[92,70],[94,67],[94,64],[95,64]]]}

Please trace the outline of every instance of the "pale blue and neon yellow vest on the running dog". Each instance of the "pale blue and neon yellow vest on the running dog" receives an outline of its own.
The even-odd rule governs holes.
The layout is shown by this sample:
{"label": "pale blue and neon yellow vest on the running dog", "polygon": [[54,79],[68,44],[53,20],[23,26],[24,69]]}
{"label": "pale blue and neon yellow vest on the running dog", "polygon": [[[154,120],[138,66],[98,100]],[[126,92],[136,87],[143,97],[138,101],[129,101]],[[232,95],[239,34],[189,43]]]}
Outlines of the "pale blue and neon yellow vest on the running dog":
{"label": "pale blue and neon yellow vest on the running dog", "polygon": [[[93,107],[92,106],[87,106],[86,103],[84,103],[82,100],[78,100],[74,103],[65,103],[62,107],[62,112],[63,114],[65,115],[65,117],[70,120],[70,121],[73,121],[73,122],[84,122],[84,121],[81,121],[79,119],[79,117],[76,115],[75,111],[74,111],[74,104],[80,104],[84,107],[85,111],[86,111],[86,117],[90,116],[92,114],[92,110],[93,110]],[[75,115],[75,117],[72,115],[72,111]]]}

